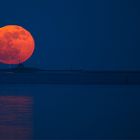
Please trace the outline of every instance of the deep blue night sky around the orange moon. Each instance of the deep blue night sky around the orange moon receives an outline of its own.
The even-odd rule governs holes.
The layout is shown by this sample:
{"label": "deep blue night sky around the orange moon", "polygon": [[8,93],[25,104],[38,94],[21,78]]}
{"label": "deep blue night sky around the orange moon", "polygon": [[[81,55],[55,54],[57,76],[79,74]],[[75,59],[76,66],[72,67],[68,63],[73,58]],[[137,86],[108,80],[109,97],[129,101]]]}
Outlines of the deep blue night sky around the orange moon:
{"label": "deep blue night sky around the orange moon", "polygon": [[5,0],[0,26],[17,24],[33,34],[27,66],[140,69],[139,7],[139,0]]}

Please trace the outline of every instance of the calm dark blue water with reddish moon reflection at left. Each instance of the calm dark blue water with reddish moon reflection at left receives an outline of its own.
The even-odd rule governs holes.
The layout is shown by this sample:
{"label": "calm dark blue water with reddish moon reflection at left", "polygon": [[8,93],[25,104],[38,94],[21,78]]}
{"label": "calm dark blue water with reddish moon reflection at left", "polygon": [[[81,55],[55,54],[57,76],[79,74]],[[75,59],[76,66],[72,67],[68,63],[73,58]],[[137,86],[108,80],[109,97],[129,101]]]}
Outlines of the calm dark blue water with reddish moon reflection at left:
{"label": "calm dark blue water with reddish moon reflection at left", "polygon": [[1,85],[5,139],[140,139],[140,86]]}

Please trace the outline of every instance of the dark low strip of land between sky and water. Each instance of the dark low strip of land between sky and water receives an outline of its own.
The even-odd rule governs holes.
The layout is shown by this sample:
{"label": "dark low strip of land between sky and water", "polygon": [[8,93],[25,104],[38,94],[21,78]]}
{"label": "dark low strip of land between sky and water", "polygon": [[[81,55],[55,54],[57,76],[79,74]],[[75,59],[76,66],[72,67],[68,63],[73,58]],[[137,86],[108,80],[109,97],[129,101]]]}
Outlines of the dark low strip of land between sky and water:
{"label": "dark low strip of land between sky and water", "polygon": [[18,66],[1,69],[0,84],[140,85],[140,71],[42,70]]}

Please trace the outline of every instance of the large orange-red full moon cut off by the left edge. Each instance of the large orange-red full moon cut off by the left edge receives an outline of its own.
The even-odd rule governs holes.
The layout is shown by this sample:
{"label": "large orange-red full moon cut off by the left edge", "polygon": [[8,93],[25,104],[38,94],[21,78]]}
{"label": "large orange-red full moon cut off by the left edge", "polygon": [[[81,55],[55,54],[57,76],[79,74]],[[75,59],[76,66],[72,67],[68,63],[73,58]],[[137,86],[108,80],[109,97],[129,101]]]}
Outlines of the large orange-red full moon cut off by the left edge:
{"label": "large orange-red full moon cut off by the left edge", "polygon": [[29,31],[18,25],[0,28],[0,63],[20,64],[34,52],[35,42]]}

